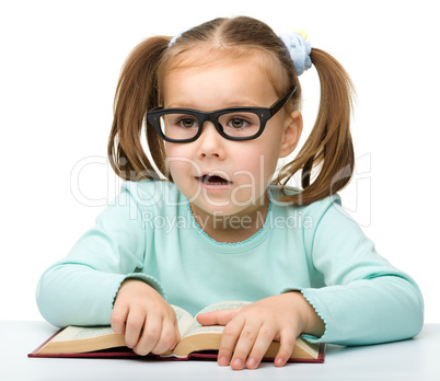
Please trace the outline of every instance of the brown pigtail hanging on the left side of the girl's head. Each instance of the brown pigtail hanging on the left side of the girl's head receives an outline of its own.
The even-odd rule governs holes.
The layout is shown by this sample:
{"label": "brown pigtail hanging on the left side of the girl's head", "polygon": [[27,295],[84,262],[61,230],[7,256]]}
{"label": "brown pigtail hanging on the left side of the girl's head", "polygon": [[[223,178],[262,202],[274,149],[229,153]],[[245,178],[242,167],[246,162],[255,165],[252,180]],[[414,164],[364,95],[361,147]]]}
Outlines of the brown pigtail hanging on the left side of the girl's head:
{"label": "brown pigtail hanging on the left side of the girl's head", "polygon": [[[107,154],[116,174],[124,180],[159,178],[143,151],[140,137],[146,111],[158,106],[159,62],[170,37],[151,37],[139,44],[128,56],[117,84],[114,119]],[[164,173],[164,146],[153,128],[147,128],[151,158]]]}

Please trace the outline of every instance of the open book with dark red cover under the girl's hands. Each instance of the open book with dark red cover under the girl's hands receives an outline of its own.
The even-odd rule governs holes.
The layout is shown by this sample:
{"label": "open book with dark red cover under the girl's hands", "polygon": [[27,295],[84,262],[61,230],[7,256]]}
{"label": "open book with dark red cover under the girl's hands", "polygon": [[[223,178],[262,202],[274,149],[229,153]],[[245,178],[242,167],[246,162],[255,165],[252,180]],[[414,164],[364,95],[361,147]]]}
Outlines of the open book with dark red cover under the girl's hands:
{"label": "open book with dark red cover under the girl's hands", "polygon": [[[211,304],[199,313],[232,309],[247,302],[219,302]],[[223,326],[202,326],[184,309],[173,305],[176,313],[181,342],[172,351],[160,356],[162,359],[217,358]],[[264,359],[274,360],[279,343],[273,342]],[[310,344],[297,338],[290,361],[324,362],[325,345]],[[138,357],[125,345],[124,336],[115,334],[109,326],[68,326],[58,331],[28,357]]]}

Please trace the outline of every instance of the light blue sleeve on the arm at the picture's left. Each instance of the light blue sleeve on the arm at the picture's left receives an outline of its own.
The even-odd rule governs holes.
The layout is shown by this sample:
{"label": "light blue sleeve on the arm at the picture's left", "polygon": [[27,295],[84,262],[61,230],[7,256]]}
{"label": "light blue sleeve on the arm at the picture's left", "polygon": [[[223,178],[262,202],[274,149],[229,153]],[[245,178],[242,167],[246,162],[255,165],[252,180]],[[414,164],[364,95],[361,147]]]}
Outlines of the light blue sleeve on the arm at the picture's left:
{"label": "light blue sleeve on the arm at the picture's left", "polygon": [[57,326],[109,324],[116,292],[129,277],[163,295],[158,281],[141,273],[144,235],[141,211],[123,187],[96,226],[40,277],[36,299],[42,315]]}

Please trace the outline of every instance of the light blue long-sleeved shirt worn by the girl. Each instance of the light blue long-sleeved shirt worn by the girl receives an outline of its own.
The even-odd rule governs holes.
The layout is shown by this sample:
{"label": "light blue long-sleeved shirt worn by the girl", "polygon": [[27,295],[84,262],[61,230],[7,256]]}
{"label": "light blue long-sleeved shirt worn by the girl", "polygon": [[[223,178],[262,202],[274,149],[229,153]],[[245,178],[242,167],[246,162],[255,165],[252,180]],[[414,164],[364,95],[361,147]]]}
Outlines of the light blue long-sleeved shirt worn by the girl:
{"label": "light blue long-sleeved shirt worn by the girl", "polygon": [[195,222],[166,181],[126,182],[120,195],[37,287],[43,316],[58,326],[109,324],[126,278],[138,278],[192,314],[224,300],[256,301],[300,290],[325,322],[311,342],[362,345],[417,335],[424,303],[416,282],[375,250],[337,195],[309,206],[276,201],[264,227],[220,243]]}

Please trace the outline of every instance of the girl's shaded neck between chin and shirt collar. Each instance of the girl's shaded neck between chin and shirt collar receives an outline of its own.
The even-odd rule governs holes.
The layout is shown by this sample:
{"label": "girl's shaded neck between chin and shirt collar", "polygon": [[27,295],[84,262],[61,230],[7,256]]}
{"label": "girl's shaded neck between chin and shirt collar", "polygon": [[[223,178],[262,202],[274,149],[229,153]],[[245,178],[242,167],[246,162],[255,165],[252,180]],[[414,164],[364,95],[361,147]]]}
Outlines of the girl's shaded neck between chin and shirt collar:
{"label": "girl's shaded neck between chin and shirt collar", "polygon": [[192,204],[189,206],[194,219],[211,239],[217,242],[236,243],[250,239],[263,228],[269,208],[269,197],[265,196],[262,207],[252,205],[241,213],[231,216],[211,215]]}

